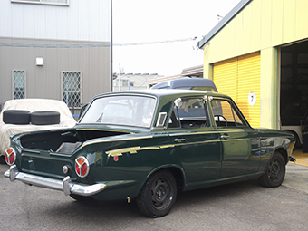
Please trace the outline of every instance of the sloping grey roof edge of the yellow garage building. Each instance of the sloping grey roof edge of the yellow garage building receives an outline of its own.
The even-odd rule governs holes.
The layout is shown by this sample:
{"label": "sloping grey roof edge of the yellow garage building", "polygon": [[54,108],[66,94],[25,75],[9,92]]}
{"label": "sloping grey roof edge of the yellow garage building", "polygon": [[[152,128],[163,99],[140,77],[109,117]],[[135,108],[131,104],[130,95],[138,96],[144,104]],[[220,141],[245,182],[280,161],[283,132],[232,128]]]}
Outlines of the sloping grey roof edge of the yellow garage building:
{"label": "sloping grey roof edge of the yellow garage building", "polygon": [[197,43],[198,48],[203,48],[221,29],[225,27],[235,16],[240,13],[246,5],[253,0],[242,0],[239,2],[214,28]]}

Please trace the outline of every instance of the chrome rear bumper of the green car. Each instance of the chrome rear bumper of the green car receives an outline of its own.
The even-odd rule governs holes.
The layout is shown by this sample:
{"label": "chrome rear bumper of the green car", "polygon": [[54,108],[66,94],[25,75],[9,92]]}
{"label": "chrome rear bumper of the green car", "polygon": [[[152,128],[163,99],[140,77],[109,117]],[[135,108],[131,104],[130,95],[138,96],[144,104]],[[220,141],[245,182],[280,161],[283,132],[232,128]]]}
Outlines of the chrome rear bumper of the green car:
{"label": "chrome rear bumper of the green car", "polygon": [[102,183],[94,185],[74,184],[72,183],[69,176],[67,176],[63,180],[57,180],[19,172],[15,165],[11,166],[7,171],[5,171],[4,175],[6,178],[10,178],[11,181],[17,179],[22,181],[24,184],[63,191],[66,196],[70,194],[91,196],[101,192],[103,189],[106,188],[106,185]]}

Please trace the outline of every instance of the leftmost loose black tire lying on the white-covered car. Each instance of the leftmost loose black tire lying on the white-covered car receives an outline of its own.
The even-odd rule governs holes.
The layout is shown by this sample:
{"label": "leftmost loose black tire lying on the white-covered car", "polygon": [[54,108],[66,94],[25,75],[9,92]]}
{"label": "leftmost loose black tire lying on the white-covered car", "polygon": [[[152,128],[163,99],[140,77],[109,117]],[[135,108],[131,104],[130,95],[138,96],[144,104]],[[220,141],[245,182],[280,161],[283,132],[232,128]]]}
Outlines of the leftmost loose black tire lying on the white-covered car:
{"label": "leftmost loose black tire lying on the white-covered car", "polygon": [[3,113],[3,121],[7,124],[29,124],[30,111],[24,110],[5,110]]}

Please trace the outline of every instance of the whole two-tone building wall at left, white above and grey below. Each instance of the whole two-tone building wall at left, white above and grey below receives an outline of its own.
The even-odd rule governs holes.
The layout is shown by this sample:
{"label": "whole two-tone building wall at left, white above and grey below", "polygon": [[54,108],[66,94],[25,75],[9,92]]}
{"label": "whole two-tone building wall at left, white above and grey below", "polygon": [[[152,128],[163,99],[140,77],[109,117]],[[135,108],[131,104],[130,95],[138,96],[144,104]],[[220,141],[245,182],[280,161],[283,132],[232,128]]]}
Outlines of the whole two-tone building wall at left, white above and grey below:
{"label": "whole two-tone building wall at left, white above and grey below", "polygon": [[81,72],[82,104],[111,91],[110,43],[110,0],[69,6],[1,1],[0,104],[13,98],[13,70],[25,72],[27,98],[62,100],[61,72]]}

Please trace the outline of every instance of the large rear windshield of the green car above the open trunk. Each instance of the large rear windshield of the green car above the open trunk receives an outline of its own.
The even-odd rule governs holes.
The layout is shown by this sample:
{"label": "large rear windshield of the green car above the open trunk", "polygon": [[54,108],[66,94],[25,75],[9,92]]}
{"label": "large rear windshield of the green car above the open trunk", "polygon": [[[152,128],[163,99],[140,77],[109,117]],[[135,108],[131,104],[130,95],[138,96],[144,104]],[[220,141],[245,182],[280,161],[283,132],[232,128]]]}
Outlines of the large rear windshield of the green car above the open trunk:
{"label": "large rear windshield of the green car above the open trunk", "polygon": [[121,124],[149,127],[155,109],[155,98],[116,95],[98,98],[82,117],[80,123]]}

